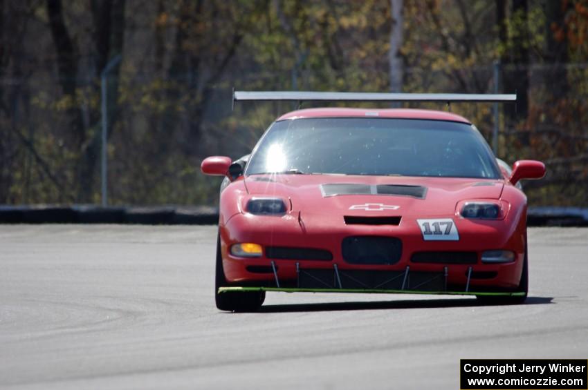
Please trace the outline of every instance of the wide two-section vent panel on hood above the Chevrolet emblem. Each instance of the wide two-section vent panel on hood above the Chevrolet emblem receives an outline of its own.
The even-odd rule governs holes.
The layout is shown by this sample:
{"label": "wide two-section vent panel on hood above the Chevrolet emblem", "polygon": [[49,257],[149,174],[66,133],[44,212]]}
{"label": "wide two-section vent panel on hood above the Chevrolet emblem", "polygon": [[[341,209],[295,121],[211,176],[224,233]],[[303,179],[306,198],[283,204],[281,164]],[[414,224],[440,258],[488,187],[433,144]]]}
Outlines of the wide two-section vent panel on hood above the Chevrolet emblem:
{"label": "wide two-section vent panel on hood above the Chevrolet emblem", "polygon": [[425,199],[427,188],[421,186],[405,186],[402,184],[322,184],[320,186],[323,197],[337,195],[392,195],[410,196]]}

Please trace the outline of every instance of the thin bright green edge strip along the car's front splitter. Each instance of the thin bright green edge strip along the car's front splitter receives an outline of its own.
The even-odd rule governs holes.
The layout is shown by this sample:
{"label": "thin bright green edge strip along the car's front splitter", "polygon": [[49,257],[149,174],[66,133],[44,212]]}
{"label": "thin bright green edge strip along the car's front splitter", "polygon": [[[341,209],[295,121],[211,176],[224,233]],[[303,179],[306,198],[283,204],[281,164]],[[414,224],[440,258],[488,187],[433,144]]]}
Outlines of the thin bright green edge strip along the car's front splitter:
{"label": "thin bright green edge strip along the car's front splitter", "polygon": [[493,297],[522,297],[517,292],[473,292],[473,291],[419,291],[419,290],[383,290],[383,289],[292,289],[282,287],[219,287],[219,293],[236,293],[245,291],[276,291],[281,293],[369,293],[369,294],[423,294],[423,295],[486,295]]}

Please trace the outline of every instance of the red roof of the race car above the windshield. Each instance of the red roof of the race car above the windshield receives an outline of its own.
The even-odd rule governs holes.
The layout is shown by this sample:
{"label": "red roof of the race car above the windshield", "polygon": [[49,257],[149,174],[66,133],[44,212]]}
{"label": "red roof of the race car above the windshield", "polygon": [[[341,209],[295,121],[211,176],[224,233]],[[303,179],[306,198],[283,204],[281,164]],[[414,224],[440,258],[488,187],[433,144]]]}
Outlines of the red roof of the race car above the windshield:
{"label": "red roof of the race car above the windshield", "polygon": [[278,121],[302,118],[397,118],[429,119],[436,121],[454,121],[470,124],[468,119],[437,110],[418,110],[413,108],[306,108],[296,110],[279,117]]}

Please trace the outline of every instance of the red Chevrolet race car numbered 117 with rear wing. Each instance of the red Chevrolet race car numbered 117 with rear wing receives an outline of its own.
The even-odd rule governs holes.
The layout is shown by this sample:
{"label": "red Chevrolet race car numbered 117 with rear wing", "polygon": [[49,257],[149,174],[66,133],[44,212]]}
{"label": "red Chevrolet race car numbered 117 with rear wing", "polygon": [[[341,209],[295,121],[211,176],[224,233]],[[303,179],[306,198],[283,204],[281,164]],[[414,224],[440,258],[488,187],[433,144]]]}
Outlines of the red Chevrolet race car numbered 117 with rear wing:
{"label": "red Chevrolet race car numbered 117 with rear wing", "polygon": [[[235,92],[235,100],[513,101],[515,95]],[[468,119],[445,111],[310,108],[279,117],[250,156],[208,157],[225,175],[217,307],[266,291],[475,295],[522,303],[526,197]]]}

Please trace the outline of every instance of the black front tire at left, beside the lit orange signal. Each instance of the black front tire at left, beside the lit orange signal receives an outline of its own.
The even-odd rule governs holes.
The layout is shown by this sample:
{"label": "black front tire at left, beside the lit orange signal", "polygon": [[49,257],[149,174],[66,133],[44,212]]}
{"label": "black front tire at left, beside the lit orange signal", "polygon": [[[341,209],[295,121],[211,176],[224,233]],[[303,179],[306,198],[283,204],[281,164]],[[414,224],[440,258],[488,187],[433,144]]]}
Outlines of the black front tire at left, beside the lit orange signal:
{"label": "black front tire at left, beside the lit orange signal", "polygon": [[217,309],[224,311],[258,311],[266,300],[265,291],[248,291],[245,293],[219,293],[219,287],[228,286],[223,271],[221,255],[221,237],[217,239],[217,260],[214,272],[214,302]]}

